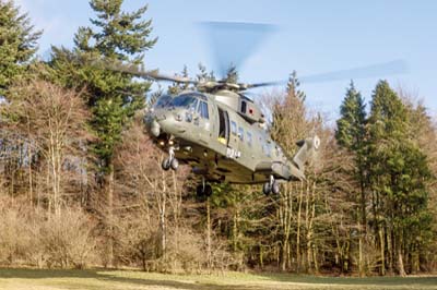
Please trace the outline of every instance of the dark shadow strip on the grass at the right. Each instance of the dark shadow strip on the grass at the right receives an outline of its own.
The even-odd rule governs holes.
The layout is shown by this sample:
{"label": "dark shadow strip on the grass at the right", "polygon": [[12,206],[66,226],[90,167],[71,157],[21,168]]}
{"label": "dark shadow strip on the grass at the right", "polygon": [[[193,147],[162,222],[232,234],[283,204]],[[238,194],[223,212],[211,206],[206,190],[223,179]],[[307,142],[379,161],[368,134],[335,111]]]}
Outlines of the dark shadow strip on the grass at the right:
{"label": "dark shadow strip on the grass at the right", "polygon": [[265,281],[295,282],[295,283],[328,283],[328,285],[356,285],[356,286],[436,286],[437,277],[317,277],[295,274],[257,274]]}

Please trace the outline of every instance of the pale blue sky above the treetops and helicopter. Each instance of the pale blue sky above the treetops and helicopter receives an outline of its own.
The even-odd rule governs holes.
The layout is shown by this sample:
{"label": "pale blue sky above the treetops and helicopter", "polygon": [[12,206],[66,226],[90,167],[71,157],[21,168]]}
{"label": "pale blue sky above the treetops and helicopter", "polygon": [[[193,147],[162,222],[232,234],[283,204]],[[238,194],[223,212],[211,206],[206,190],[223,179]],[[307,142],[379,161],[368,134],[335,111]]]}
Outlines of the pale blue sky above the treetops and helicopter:
{"label": "pale blue sky above the treetops and helicopter", "polygon": [[[51,45],[72,47],[78,27],[94,17],[87,0],[15,1],[44,29],[40,55]],[[239,68],[241,81],[284,80],[294,70],[305,76],[402,59],[408,73],[354,80],[356,88],[368,101],[378,80],[385,78],[437,116],[437,1],[125,0],[123,9],[145,3],[145,19],[153,20],[153,36],[158,37],[145,56],[146,69],[172,74],[186,64],[196,74],[199,62],[214,68],[200,22],[273,24],[275,32]],[[350,81],[304,83],[302,88],[314,110],[335,119]]]}

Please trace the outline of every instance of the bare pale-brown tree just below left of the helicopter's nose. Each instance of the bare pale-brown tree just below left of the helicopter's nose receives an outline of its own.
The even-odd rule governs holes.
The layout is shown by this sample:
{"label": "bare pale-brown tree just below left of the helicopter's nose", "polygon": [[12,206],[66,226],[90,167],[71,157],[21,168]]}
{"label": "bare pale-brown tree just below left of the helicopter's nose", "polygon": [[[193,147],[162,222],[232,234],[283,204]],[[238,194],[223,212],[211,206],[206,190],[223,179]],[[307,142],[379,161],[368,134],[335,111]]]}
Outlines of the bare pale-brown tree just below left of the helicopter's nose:
{"label": "bare pale-brown tree just below left of the helicopter's nose", "polygon": [[[179,250],[178,239],[184,230],[180,229],[180,215],[187,169],[181,167],[178,172],[157,170],[164,154],[144,133],[140,116],[125,133],[123,140],[115,162],[119,168],[116,177],[119,181],[119,213],[129,210],[132,218],[142,220],[149,229],[157,226],[160,242],[154,245],[154,258],[160,258],[164,262],[163,265],[175,265]],[[149,239],[144,231],[139,231],[137,238],[139,241]],[[169,239],[175,240],[172,243],[176,246],[173,249],[173,256],[167,251]]]}

